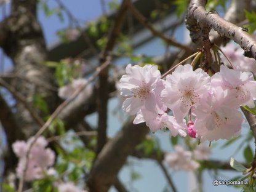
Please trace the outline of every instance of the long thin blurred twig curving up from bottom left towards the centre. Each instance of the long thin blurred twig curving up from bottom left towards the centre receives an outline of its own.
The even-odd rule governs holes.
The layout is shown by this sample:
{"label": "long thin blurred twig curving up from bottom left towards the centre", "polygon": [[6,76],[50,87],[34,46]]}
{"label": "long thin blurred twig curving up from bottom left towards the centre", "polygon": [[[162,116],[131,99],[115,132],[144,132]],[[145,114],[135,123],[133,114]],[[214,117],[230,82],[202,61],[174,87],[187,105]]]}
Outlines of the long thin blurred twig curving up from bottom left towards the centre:
{"label": "long thin blurred twig curving up from bottom left towards the centre", "polygon": [[67,100],[65,100],[62,104],[60,104],[57,109],[54,111],[54,113],[52,113],[52,115],[50,116],[50,118],[44,123],[44,125],[38,130],[38,132],[36,133],[36,135],[34,135],[34,140],[33,142],[30,143],[30,145],[28,146],[28,151],[26,152],[26,156],[25,156],[25,166],[23,168],[23,172],[22,172],[22,177],[20,178],[20,181],[18,183],[18,192],[22,192],[23,190],[23,185],[24,185],[24,181],[25,181],[25,174],[26,174],[26,169],[28,167],[28,156],[30,154],[31,148],[34,145],[34,143],[36,142],[36,140],[38,139],[38,137],[50,126],[50,124],[52,123],[52,121],[54,121],[54,119],[58,116],[58,114],[71,102],[74,100],[74,98],[76,98],[81,92],[82,90],[84,90],[87,85],[93,81],[95,78],[97,78],[98,74],[100,74],[100,72],[105,69],[108,65],[110,65],[110,60],[106,60],[105,63],[103,63],[101,66],[99,66],[97,68],[97,70],[95,71],[95,73],[90,76],[90,78],[88,79],[87,83],[84,84],[83,86],[79,87],[78,90],[76,90],[71,97],[69,97]]}

